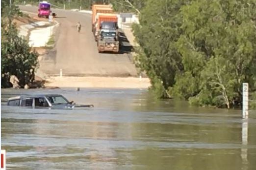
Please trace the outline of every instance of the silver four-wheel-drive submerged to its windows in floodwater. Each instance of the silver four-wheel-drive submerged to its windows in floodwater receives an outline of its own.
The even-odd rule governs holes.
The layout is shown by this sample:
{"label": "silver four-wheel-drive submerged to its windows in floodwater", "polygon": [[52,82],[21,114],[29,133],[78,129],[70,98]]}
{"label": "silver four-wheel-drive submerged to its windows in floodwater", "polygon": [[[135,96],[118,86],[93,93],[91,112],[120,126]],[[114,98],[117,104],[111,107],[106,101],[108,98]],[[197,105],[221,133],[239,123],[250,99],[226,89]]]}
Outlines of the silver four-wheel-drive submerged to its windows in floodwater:
{"label": "silver four-wheel-drive submerged to its windows in floodwater", "polygon": [[26,106],[32,108],[52,108],[52,109],[72,109],[75,107],[93,107],[93,105],[76,105],[69,102],[59,94],[40,94],[31,96],[11,97],[7,101],[7,106]]}

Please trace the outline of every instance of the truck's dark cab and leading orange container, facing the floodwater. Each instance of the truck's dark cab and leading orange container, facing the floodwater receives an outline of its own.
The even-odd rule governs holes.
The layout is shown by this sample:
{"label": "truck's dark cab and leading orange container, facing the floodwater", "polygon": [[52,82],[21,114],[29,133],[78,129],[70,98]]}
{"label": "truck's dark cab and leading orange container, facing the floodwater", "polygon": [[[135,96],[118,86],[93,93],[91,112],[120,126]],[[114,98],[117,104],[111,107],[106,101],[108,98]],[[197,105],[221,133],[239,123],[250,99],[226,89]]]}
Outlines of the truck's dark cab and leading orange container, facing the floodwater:
{"label": "truck's dark cab and leading orange container, facing the floodwater", "polygon": [[96,24],[96,40],[98,51],[119,52],[118,18],[115,14],[98,13]]}

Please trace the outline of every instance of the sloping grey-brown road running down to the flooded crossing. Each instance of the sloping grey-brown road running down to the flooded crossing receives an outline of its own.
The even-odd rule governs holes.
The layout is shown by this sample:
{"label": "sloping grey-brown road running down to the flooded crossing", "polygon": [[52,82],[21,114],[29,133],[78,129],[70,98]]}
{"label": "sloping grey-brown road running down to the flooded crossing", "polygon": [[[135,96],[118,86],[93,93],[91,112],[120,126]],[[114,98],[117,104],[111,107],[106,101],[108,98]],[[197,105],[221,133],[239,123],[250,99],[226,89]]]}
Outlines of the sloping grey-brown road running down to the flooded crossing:
{"label": "sloping grey-brown road running down to the flooded crossing", "polygon": [[[37,8],[32,6],[20,6],[20,8],[27,12],[37,12]],[[40,63],[41,71],[54,75],[59,74],[59,70],[62,69],[63,75],[67,76],[137,76],[129,53],[98,53],[91,32],[91,14],[61,9],[51,10],[57,14],[56,21],[59,22],[59,27],[55,30],[56,45],[49,51],[46,60]],[[80,33],[76,30],[78,21],[82,25]],[[129,49],[129,45],[124,49]]]}

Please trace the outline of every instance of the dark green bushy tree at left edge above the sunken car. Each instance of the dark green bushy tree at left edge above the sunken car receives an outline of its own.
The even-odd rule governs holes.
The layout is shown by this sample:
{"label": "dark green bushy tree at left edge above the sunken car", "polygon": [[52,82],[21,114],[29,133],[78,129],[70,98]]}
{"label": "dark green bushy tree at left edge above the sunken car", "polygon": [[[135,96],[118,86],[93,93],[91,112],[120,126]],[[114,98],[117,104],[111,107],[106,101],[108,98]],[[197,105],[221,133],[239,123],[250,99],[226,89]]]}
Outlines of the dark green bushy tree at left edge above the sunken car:
{"label": "dark green bushy tree at left edge above the sunken car", "polygon": [[19,85],[24,87],[33,82],[34,72],[38,66],[38,53],[31,51],[28,42],[18,36],[18,30],[13,19],[22,16],[19,8],[9,6],[6,0],[1,1],[1,88],[11,87],[10,76],[19,79]]}

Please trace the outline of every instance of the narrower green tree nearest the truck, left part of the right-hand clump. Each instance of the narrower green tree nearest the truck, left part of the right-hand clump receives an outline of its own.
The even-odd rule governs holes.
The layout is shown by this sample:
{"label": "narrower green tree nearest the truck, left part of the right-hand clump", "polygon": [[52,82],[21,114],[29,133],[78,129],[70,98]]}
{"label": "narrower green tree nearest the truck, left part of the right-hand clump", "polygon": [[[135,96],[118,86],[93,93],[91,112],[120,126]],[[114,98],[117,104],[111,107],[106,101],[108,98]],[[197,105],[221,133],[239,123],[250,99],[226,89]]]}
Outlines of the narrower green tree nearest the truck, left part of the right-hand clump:
{"label": "narrower green tree nearest the truck, left part of the right-hand clump", "polygon": [[136,40],[142,47],[136,63],[150,79],[154,76],[160,79],[164,89],[175,84],[175,75],[183,67],[173,42],[179,38],[181,19],[178,12],[184,1],[148,0],[140,15],[140,25],[133,26]]}

